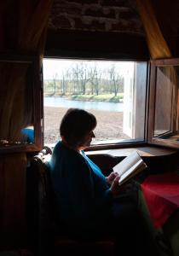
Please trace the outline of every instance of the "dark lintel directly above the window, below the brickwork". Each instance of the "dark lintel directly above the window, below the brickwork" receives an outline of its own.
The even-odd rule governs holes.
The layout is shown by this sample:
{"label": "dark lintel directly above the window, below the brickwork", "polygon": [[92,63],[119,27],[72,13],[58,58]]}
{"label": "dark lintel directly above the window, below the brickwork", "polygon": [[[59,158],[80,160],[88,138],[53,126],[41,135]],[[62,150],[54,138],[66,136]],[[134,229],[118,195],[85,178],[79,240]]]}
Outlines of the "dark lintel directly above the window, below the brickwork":
{"label": "dark lintel directly above the window, below the brickwork", "polygon": [[44,56],[148,60],[144,38],[112,32],[48,33]]}

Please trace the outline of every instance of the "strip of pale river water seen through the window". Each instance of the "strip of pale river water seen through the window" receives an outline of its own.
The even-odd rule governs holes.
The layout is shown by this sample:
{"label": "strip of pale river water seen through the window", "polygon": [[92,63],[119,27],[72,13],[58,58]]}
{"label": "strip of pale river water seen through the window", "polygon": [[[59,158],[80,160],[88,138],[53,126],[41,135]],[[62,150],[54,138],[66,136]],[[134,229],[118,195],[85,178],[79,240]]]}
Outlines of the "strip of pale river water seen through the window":
{"label": "strip of pale river water seen through the window", "polygon": [[121,102],[81,102],[53,96],[44,97],[43,101],[46,107],[84,108],[123,112],[123,103]]}

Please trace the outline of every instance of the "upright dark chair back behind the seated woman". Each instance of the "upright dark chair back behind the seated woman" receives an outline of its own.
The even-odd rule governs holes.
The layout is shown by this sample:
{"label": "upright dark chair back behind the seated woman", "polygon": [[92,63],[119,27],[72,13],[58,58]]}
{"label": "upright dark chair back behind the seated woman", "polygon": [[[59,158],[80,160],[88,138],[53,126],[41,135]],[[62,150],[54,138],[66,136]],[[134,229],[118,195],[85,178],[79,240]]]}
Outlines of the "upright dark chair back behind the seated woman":
{"label": "upright dark chair back behind the seated woman", "polygon": [[27,170],[28,240],[36,255],[48,255],[53,242],[54,205],[48,162],[51,149],[43,148],[32,157]]}

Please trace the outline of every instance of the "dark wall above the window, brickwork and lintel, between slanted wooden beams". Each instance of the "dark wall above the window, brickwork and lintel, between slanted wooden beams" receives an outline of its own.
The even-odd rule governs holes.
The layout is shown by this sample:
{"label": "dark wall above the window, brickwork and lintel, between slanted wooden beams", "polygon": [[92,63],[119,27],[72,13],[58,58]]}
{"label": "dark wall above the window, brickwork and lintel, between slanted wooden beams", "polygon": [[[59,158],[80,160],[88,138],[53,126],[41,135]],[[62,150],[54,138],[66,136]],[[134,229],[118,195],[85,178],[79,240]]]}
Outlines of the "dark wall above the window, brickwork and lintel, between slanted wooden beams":
{"label": "dark wall above the window, brickwork and lintel, between slanted wooden beams", "polygon": [[148,59],[135,1],[55,0],[45,55]]}

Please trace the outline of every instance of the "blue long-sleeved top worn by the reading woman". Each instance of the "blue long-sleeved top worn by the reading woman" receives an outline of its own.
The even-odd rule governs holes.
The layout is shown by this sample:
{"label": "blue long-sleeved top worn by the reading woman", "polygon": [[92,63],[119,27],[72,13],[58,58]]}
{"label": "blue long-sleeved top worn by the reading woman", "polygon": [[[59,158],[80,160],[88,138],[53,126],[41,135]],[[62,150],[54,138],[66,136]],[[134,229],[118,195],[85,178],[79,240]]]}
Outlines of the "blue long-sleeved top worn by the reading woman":
{"label": "blue long-sleeved top worn by the reading woman", "polygon": [[107,217],[112,193],[101,169],[84,151],[78,153],[59,142],[49,162],[52,187],[62,219],[97,220]]}

